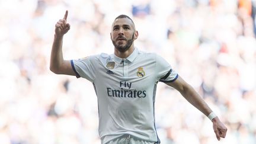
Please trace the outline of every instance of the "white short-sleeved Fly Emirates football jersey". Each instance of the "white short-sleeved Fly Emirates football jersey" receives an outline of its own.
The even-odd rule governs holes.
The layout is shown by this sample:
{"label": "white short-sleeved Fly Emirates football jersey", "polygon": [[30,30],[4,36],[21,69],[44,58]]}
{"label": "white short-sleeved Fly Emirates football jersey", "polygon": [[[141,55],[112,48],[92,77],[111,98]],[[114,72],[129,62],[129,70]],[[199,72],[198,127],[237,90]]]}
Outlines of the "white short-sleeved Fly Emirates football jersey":
{"label": "white short-sleeved Fly Emirates football jersey", "polygon": [[124,134],[160,142],[155,128],[156,84],[178,78],[166,60],[135,48],[126,59],[102,53],[71,60],[71,65],[78,78],[94,85],[101,143]]}

